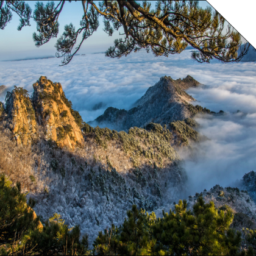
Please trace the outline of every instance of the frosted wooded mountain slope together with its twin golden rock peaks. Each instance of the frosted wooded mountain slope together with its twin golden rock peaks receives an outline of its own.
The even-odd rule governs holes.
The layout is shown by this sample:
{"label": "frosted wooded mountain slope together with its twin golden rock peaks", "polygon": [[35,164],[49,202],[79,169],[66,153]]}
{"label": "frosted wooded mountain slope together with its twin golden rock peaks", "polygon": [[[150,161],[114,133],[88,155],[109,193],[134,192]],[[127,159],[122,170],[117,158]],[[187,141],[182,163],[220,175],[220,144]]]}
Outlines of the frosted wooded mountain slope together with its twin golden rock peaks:
{"label": "frosted wooded mountain slope together with its twin golden rock peaks", "polygon": [[80,223],[90,243],[105,225],[121,224],[133,204],[153,210],[186,189],[177,138],[160,124],[128,133],[93,128],[62,86],[43,76],[31,98],[15,88],[1,106],[1,173],[21,182],[38,215]]}

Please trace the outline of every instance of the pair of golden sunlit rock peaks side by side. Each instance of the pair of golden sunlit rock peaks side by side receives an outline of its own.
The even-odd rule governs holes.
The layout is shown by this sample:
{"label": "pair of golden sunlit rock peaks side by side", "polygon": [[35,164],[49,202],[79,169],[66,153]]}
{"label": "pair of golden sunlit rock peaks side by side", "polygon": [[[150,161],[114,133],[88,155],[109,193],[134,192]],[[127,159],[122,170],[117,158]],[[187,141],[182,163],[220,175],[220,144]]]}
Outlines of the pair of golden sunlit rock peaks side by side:
{"label": "pair of golden sunlit rock peaks side by side", "polygon": [[[21,87],[7,92],[7,123],[17,143],[30,144],[41,136],[39,132],[42,131],[46,140],[55,141],[61,147],[73,149],[81,144],[84,137],[77,124],[76,115],[79,114],[74,112],[71,102],[66,99],[62,85],[53,84],[41,76],[33,87],[32,99]],[[1,106],[0,111],[3,112]]]}

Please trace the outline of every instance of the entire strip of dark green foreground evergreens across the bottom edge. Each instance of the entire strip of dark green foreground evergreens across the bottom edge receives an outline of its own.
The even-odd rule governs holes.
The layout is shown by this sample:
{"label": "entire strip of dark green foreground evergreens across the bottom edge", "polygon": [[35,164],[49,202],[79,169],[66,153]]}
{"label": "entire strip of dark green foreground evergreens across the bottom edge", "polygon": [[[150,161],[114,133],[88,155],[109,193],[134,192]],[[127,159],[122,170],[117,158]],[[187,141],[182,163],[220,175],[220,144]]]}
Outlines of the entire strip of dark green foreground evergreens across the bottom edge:
{"label": "entire strip of dark green foreground evergreens across the bottom edge", "polygon": [[[154,212],[132,205],[123,223],[99,231],[89,249],[88,235],[80,227],[68,228],[60,215],[40,222],[20,183],[0,177],[0,254],[1,255],[255,255],[255,230],[233,229],[241,215],[230,207],[217,208],[202,196],[188,210],[186,200],[174,210]],[[10,208],[10,206],[12,208]],[[7,210],[10,209],[10,210]],[[236,218],[235,218],[236,217]],[[196,228],[195,228],[196,227]]]}

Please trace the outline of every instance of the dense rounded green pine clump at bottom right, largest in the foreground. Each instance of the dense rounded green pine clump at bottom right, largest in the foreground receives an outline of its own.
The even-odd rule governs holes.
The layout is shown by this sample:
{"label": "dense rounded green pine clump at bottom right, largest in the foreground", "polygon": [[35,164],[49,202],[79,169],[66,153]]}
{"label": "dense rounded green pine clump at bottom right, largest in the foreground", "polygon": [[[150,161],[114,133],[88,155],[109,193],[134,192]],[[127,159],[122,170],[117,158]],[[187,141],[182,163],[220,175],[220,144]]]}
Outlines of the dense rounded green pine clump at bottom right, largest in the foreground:
{"label": "dense rounded green pine clump at bottom right, largest in the foreground", "polygon": [[180,200],[175,213],[163,212],[153,226],[157,238],[157,251],[168,254],[236,254],[241,243],[241,233],[229,229],[233,221],[230,210],[218,211],[213,202],[205,204],[202,197],[187,211],[187,202]]}

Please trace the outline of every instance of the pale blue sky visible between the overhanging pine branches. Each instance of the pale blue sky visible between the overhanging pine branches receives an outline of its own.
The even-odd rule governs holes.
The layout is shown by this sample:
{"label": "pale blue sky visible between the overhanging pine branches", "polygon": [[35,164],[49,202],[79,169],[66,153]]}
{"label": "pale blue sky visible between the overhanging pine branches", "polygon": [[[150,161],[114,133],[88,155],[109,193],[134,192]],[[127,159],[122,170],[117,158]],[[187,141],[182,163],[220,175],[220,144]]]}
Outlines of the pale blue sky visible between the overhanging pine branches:
{"label": "pale blue sky visible between the overhanging pine branches", "polygon": [[[32,10],[34,10],[35,3],[37,1],[25,1],[28,2]],[[59,1],[54,1],[55,5]],[[157,1],[152,2],[152,7],[155,6]],[[46,4],[46,1],[44,1]],[[206,8],[210,6],[207,1],[199,1],[201,7]],[[83,15],[82,4],[80,1],[72,1],[69,3],[66,1],[62,13],[59,17],[60,31],[57,38],[62,35],[63,28],[66,24],[73,23],[76,28],[79,27],[79,22]],[[48,43],[44,44],[40,48],[37,48],[32,39],[32,34],[37,31],[36,24],[33,20],[30,20],[31,26],[23,27],[21,31],[17,30],[19,24],[19,17],[16,13],[13,13],[12,21],[5,27],[4,30],[0,30],[0,60],[12,60],[23,59],[29,57],[41,57],[45,55],[55,55],[54,44],[57,38],[52,38]],[[102,18],[99,20],[100,26],[98,30],[84,43],[80,48],[79,54],[89,54],[93,52],[105,52],[110,46],[113,46],[113,41],[116,38],[120,38],[119,32],[115,32],[112,37],[108,37],[102,30],[103,22]],[[122,32],[122,30],[121,30]]]}

